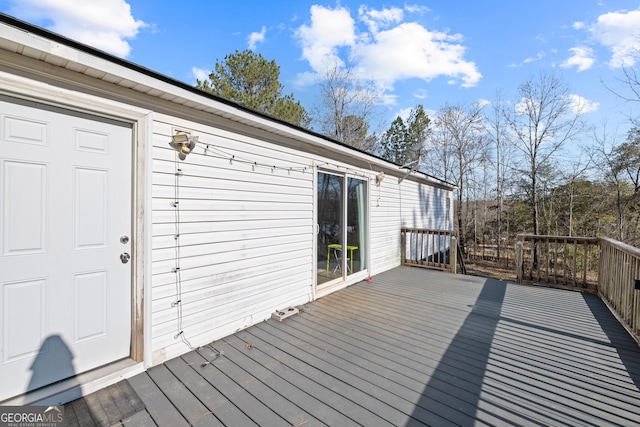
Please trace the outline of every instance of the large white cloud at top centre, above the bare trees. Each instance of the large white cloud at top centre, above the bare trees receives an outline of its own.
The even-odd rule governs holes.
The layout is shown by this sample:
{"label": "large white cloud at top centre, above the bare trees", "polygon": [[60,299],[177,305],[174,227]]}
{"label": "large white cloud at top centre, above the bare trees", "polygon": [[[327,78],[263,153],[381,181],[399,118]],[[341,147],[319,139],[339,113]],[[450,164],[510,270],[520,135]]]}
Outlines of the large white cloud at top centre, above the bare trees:
{"label": "large white cloud at top centre, above the bare trees", "polygon": [[463,87],[476,85],[482,75],[475,63],[464,58],[461,34],[403,22],[404,12],[424,10],[362,6],[358,11],[360,29],[348,9],[314,5],[310,24],[296,32],[302,58],[318,74],[327,64],[344,66],[349,62],[359,77],[375,81],[385,91],[391,91],[395,82],[411,78],[430,81],[445,77]]}

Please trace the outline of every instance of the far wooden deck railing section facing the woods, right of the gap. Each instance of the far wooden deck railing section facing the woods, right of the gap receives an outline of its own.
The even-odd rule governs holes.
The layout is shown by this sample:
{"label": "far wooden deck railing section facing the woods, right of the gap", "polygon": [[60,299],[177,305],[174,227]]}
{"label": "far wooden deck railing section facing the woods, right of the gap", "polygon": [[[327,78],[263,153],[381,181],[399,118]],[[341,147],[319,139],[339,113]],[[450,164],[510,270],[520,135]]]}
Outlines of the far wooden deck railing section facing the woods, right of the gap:
{"label": "far wooden deck railing section facing the woods, right of the gap", "polygon": [[518,282],[595,291],[598,285],[600,239],[596,237],[518,235]]}

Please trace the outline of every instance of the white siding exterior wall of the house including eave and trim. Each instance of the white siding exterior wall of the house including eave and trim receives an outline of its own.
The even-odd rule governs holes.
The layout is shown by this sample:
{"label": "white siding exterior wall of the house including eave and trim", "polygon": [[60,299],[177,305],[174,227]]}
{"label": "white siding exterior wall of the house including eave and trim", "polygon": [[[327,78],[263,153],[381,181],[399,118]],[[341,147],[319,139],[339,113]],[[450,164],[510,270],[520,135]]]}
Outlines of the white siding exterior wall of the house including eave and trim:
{"label": "white siding exterior wall of the house including eave and trim", "polygon": [[[420,174],[399,182],[397,166],[302,130],[227,105],[212,113],[215,102],[182,89],[176,93],[190,102],[161,96],[154,88],[171,89],[166,82],[86,53],[56,47],[85,64],[57,57],[45,64],[53,53],[32,47],[22,50],[27,57],[15,46],[0,36],[0,47],[11,49],[0,56],[0,92],[134,127],[132,359],[144,367],[318,297],[319,170],[368,181],[368,270],[330,291],[398,266],[401,227],[451,227],[451,189]],[[126,82],[118,86],[87,64]],[[169,145],[176,129],[199,138],[185,160]],[[387,176],[376,185],[380,169]]]}

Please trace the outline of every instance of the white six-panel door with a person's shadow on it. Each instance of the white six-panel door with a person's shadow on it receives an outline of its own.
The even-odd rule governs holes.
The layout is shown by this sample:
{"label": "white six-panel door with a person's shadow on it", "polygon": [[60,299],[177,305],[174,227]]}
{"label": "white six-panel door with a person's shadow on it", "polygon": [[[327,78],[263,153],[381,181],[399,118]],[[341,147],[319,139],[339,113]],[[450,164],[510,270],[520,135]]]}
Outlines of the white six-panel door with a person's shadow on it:
{"label": "white six-panel door with a person's shadow on it", "polygon": [[132,127],[0,97],[0,401],[126,358]]}

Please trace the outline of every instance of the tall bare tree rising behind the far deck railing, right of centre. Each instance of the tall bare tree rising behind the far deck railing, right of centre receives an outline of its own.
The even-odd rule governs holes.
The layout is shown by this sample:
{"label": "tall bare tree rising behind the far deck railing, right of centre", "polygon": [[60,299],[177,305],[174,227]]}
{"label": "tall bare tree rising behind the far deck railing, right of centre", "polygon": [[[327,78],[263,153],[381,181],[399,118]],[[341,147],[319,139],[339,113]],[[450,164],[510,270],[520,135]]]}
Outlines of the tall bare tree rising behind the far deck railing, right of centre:
{"label": "tall bare tree rising behind the far deck railing, right of centre", "polygon": [[[538,196],[541,172],[551,166],[554,156],[584,129],[585,105],[576,102],[569,87],[557,76],[542,72],[518,89],[519,99],[514,109],[505,115],[514,136],[514,146],[523,159],[520,172],[528,179],[529,205],[533,233],[539,234]],[[534,253],[533,262],[537,263]]]}

